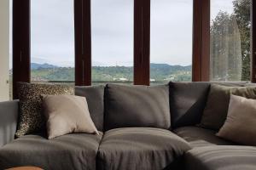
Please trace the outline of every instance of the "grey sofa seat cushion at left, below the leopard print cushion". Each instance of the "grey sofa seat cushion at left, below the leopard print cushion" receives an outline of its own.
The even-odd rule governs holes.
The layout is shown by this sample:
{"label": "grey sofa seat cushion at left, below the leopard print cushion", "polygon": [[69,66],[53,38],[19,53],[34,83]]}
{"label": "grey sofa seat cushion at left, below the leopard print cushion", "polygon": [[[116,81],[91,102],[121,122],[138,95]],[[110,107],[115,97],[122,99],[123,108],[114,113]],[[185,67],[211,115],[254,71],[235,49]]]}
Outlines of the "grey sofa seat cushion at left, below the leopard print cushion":
{"label": "grey sofa seat cushion at left, below the leopard print cushion", "polygon": [[35,166],[43,169],[96,169],[100,135],[72,133],[55,139],[26,135],[0,149],[0,169]]}

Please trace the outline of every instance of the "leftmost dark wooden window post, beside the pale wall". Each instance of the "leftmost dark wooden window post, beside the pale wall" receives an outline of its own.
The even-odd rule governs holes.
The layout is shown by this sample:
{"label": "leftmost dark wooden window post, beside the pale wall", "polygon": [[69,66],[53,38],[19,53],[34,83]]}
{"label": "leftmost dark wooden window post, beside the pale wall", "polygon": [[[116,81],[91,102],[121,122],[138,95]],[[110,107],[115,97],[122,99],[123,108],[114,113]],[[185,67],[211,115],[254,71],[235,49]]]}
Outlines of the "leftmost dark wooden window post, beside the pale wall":
{"label": "leftmost dark wooden window post, beside the pale wall", "polygon": [[30,0],[13,0],[13,98],[17,82],[30,82]]}

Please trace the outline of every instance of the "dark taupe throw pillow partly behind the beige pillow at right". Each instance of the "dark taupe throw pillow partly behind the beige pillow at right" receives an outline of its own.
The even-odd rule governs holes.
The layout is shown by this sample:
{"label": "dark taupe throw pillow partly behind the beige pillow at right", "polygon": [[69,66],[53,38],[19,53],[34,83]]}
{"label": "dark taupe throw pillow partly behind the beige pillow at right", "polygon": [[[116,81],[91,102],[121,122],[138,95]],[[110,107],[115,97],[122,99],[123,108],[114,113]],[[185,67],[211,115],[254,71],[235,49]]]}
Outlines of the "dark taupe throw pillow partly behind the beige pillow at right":
{"label": "dark taupe throw pillow partly behind the beige pillow at right", "polygon": [[200,126],[219,130],[228,114],[230,94],[256,99],[256,87],[227,87],[212,84]]}

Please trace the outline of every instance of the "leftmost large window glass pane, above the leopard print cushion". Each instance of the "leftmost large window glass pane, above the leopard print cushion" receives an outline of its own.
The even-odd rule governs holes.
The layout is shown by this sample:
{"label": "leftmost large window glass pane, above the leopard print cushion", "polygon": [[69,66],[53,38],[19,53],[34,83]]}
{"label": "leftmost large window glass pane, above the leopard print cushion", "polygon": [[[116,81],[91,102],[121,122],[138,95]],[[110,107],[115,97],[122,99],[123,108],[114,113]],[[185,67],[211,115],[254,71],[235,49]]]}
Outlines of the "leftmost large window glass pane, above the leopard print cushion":
{"label": "leftmost large window glass pane, above the leopard print cushion", "polygon": [[73,0],[31,1],[32,82],[74,81]]}

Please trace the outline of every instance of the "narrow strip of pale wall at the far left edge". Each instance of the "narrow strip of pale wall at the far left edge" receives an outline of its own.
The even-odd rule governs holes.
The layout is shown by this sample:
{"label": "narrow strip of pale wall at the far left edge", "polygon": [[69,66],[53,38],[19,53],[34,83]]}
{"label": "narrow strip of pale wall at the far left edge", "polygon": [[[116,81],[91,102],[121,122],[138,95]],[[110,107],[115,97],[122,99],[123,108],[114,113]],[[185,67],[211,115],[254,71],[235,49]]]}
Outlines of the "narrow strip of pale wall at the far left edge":
{"label": "narrow strip of pale wall at the far left edge", "polygon": [[0,101],[9,100],[9,0],[0,0]]}

